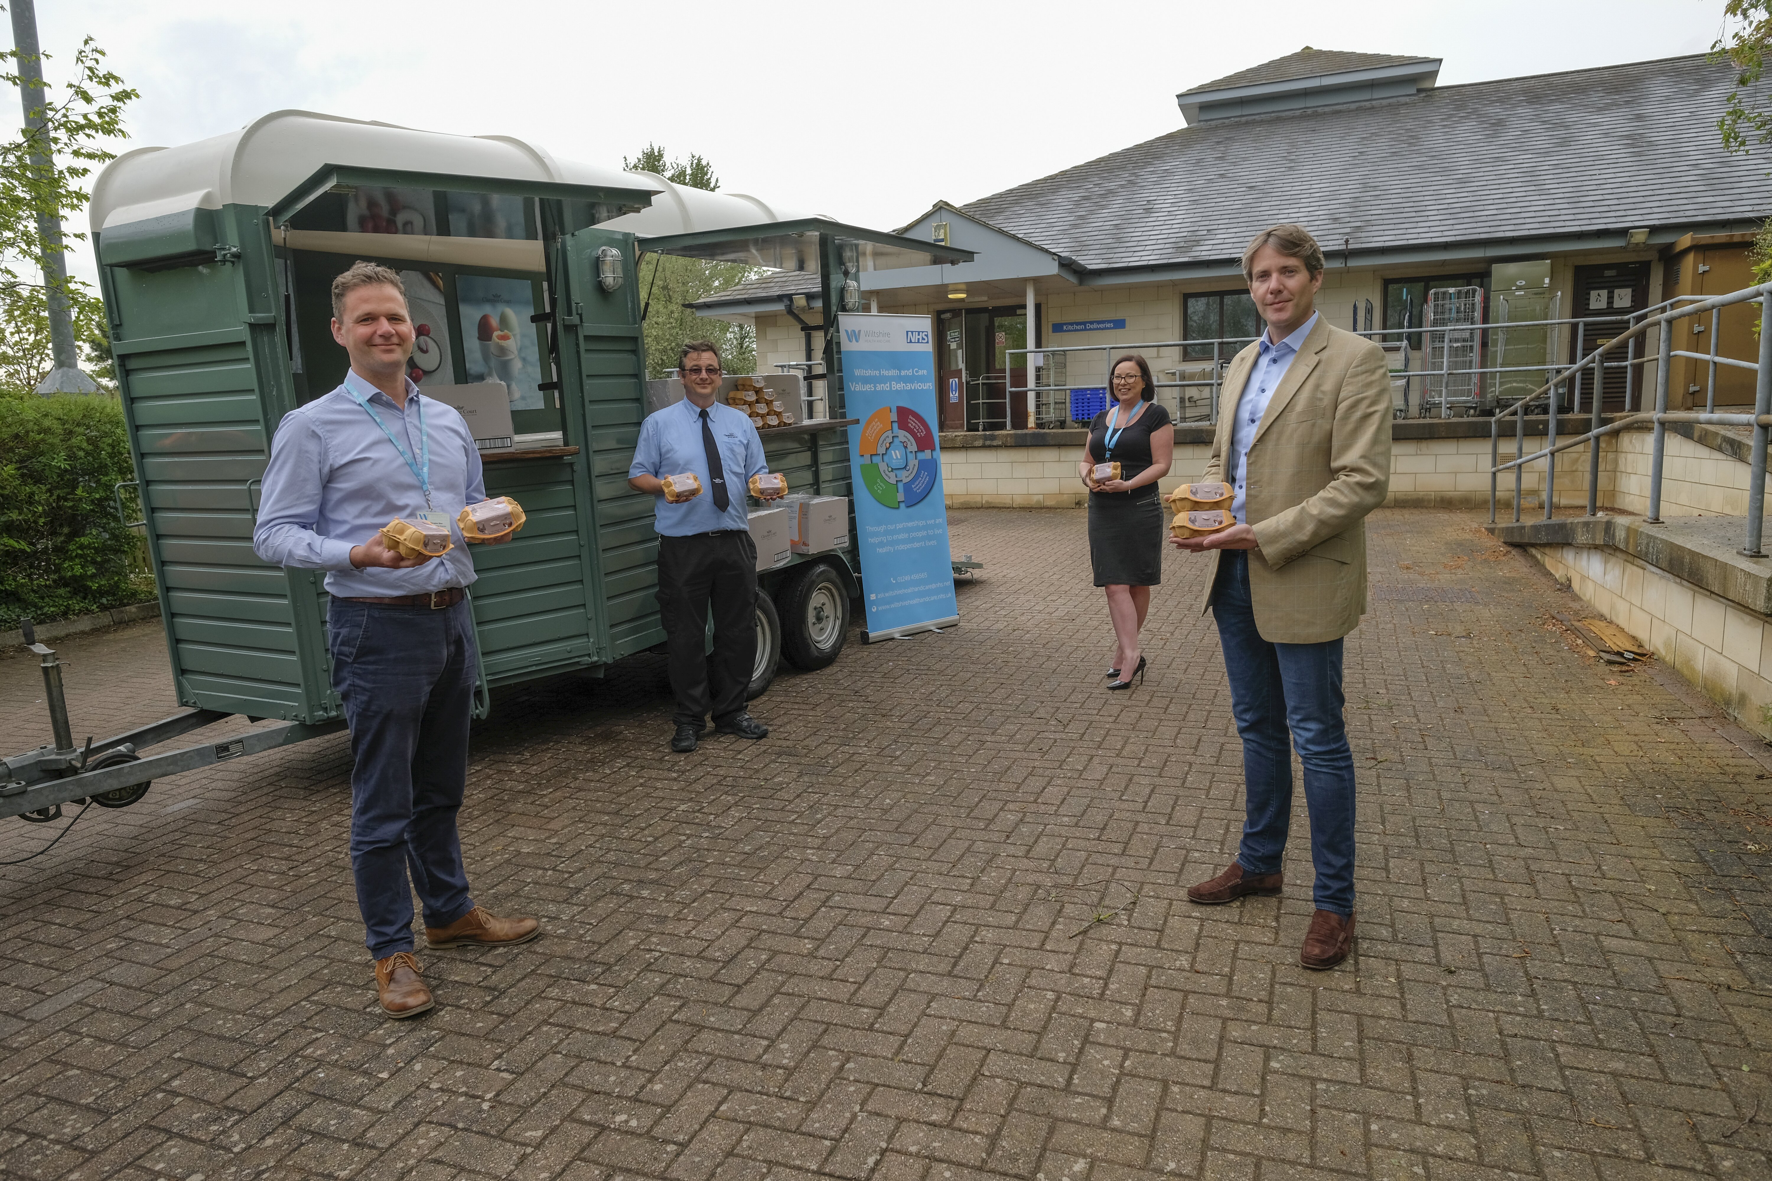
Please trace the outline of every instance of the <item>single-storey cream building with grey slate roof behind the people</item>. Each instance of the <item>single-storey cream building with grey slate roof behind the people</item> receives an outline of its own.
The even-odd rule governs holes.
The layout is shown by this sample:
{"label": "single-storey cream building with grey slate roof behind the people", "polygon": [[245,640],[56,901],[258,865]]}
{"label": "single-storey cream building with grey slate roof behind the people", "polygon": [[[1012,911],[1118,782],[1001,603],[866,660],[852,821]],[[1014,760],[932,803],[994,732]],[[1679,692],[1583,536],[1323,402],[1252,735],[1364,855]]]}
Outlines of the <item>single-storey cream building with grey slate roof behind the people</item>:
{"label": "single-storey cream building with grey slate roof behind the people", "polygon": [[[1278,221],[1322,243],[1317,306],[1341,328],[1416,328],[1444,287],[1483,290],[1496,322],[1501,287],[1527,274],[1558,315],[1591,320],[1591,349],[1620,312],[1749,283],[1745,248],[1772,214],[1772,181],[1760,156],[1721,149],[1726,64],[1696,55],[1453,87],[1437,85],[1439,67],[1304,48],[1191,87],[1164,136],[925,211],[900,232],[946,235],[976,260],[865,273],[863,290],[879,312],[937,317],[943,428],[976,430],[1069,421],[1065,398],[1044,400],[1035,421],[1022,398],[1003,398],[1005,379],[1028,384],[1021,368],[1005,374],[1005,351],[1030,343],[1030,306],[1035,349],[1260,331],[1239,257]],[[817,283],[794,274],[698,308],[753,322],[764,365],[804,358],[804,329],[822,315]],[[1719,351],[1753,359],[1751,324],[1745,306],[1726,315]],[[1550,347],[1572,352],[1575,331]],[[1212,363],[1201,347],[1143,352],[1168,379]],[[1099,384],[1106,372],[1106,352],[1045,359],[1037,384]],[[1676,367],[1676,404],[1692,379]],[[1731,370],[1719,402],[1751,400],[1749,382]],[[1180,391],[1164,393],[1187,418]]]}

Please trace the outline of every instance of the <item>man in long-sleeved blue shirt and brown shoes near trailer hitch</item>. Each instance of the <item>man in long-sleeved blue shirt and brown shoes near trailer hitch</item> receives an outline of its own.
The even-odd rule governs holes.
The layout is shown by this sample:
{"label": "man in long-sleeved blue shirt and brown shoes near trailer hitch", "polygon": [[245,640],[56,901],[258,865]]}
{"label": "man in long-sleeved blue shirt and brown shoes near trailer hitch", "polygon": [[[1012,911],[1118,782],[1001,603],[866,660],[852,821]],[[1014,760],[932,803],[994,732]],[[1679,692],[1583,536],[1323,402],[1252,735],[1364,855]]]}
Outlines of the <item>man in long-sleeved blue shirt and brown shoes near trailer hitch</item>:
{"label": "man in long-sleeved blue shirt and brown shoes near trailer hitch", "polygon": [[[351,372],[278,423],[252,545],[273,565],[328,572],[331,683],[354,760],[351,875],[381,1007],[404,1018],[434,1004],[413,958],[415,885],[431,947],[521,944],[539,928],[473,903],[455,830],[480,664],[455,515],[486,499],[480,455],[461,414],[406,377],[400,276],[358,262],[331,297]],[[455,547],[402,558],[379,533],[395,517],[447,526]]]}

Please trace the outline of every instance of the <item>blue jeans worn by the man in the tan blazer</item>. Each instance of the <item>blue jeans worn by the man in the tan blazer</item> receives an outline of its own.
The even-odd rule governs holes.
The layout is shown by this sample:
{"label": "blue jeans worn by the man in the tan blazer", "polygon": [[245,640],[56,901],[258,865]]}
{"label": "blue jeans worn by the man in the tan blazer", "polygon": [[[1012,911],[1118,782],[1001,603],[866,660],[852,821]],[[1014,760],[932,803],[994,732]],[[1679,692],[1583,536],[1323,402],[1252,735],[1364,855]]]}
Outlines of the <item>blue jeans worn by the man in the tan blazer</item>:
{"label": "blue jeans worn by the man in the tan blazer", "polygon": [[[1247,811],[1237,862],[1279,873],[1292,820],[1292,753],[1304,765],[1317,908],[1354,914],[1354,751],[1341,719],[1341,641],[1271,645],[1255,629],[1249,556],[1224,551],[1212,590],[1230,703],[1242,735]],[[1290,733],[1288,733],[1290,731]]]}

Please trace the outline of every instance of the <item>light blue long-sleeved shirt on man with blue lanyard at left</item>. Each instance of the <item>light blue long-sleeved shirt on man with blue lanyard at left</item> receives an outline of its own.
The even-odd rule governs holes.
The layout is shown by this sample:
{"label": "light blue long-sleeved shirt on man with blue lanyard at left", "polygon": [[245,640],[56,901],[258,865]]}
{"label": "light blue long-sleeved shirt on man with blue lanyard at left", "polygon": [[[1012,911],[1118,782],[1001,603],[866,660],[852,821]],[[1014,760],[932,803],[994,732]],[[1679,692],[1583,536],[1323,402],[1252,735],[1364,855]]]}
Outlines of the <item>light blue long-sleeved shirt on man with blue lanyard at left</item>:
{"label": "light blue long-sleeved shirt on man with blue lanyard at left", "polygon": [[[395,517],[425,510],[425,492],[393,441],[358,405],[351,391],[369,398],[413,462],[424,467],[418,407],[424,405],[431,441],[431,508],[448,513],[455,549],[409,570],[351,567],[351,547],[365,544]],[[473,558],[455,515],[486,499],[480,452],[461,413],[425,398],[406,382],[406,409],[356,375],[284,416],[271,439],[264,469],[264,496],[252,549],[276,567],[331,570],[326,590],[342,598],[422,595],[473,583]]]}

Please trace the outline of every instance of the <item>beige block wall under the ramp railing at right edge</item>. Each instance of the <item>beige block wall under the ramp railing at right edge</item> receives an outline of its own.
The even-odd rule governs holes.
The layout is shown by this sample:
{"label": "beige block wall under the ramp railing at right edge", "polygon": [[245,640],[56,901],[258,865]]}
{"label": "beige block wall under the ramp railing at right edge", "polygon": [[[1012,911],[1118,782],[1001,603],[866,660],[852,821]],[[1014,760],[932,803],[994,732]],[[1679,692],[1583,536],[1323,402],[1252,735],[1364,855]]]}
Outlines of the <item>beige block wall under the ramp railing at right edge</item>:
{"label": "beige block wall under the ramp railing at right edge", "polygon": [[1729,717],[1772,738],[1772,627],[1765,616],[1620,549],[1531,545],[1529,551]]}

